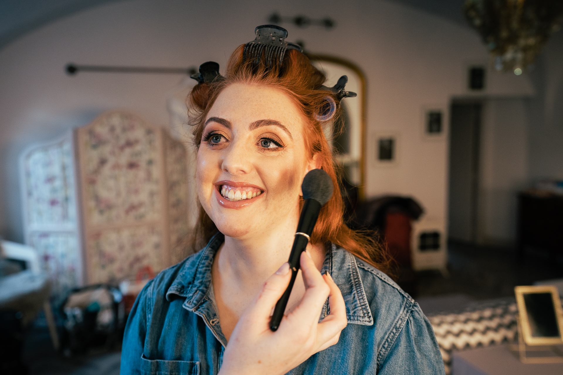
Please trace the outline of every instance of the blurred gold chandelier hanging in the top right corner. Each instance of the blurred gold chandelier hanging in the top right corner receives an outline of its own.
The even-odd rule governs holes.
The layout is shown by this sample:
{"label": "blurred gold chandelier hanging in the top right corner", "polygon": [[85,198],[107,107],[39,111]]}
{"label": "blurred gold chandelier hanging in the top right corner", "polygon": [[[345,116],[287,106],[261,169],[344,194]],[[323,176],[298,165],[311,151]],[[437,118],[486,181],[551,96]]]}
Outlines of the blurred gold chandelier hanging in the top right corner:
{"label": "blurred gold chandelier hanging in the top right corner", "polygon": [[463,11],[495,69],[520,75],[559,29],[563,0],[466,0]]}

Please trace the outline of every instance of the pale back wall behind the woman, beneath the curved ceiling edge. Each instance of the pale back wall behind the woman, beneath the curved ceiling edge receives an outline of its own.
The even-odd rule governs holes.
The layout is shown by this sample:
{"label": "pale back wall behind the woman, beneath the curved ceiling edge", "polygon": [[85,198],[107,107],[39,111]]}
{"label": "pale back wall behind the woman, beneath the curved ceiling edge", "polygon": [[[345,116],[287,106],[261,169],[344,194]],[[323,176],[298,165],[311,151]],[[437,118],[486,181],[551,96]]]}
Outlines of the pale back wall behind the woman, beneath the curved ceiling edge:
{"label": "pale back wall behind the woman, beneath the curved ceiling edge", "polygon": [[[166,125],[166,94],[181,76],[65,75],[67,62],[137,66],[225,66],[239,44],[254,38],[274,7],[258,1],[123,1],[52,22],[0,51],[0,234],[22,240],[17,156],[28,144],[87,124],[101,111],[128,109]],[[279,10],[278,11],[282,11]],[[352,0],[284,2],[283,15],[330,16],[334,30],[287,26],[288,40],[311,52],[345,57],[368,81],[368,196],[399,193],[417,198],[429,218],[446,220],[447,134],[428,141],[421,111],[448,107],[466,96],[466,69],[486,61],[477,34],[397,3]],[[527,76],[493,79],[491,92],[522,91]],[[526,86],[527,87],[527,86]],[[524,88],[525,91],[526,88]],[[374,135],[400,135],[399,163],[379,168]]]}

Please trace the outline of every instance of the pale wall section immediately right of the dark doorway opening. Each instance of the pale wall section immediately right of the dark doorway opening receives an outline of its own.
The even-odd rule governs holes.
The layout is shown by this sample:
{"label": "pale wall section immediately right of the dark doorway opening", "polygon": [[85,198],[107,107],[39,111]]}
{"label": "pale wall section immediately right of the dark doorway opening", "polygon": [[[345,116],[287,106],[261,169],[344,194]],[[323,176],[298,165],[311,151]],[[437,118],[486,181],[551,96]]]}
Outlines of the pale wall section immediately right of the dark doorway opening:
{"label": "pale wall section immediately right of the dark doorway opening", "polygon": [[510,246],[516,238],[517,192],[528,187],[528,98],[483,102],[477,241]]}

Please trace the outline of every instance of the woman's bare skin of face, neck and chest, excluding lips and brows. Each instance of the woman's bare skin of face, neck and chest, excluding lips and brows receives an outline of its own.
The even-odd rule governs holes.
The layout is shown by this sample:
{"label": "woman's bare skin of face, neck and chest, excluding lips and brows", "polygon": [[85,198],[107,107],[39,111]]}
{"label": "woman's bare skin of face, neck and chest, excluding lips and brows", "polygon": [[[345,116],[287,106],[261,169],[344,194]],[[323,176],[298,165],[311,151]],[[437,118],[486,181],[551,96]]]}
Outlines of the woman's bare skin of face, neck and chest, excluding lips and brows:
{"label": "woman's bare skin of face, neck and chest, excluding lips and brows", "polygon": [[[217,97],[207,115],[231,123],[230,129],[216,121],[203,131],[197,155],[199,200],[225,243],[218,250],[212,267],[213,290],[221,331],[227,340],[239,317],[260,293],[263,283],[285,261],[293,244],[299,221],[301,182],[311,169],[320,168],[305,152],[303,126],[306,119],[283,91],[271,86],[232,84]],[[283,124],[249,130],[258,120]],[[264,139],[275,142],[262,147]],[[267,142],[267,143],[268,143]],[[221,205],[216,183],[229,180],[260,188],[263,193],[240,209]],[[309,245],[311,257],[320,270],[325,249]],[[301,301],[305,284],[298,273],[286,312]]]}

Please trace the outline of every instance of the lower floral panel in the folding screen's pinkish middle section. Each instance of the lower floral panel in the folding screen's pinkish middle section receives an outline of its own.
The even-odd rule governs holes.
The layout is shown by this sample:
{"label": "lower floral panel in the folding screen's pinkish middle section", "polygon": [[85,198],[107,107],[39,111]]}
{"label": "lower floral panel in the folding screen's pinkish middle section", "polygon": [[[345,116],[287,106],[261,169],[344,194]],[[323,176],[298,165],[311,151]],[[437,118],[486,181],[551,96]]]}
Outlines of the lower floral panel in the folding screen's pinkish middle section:
{"label": "lower floral panel in the folding screen's pinkish middle section", "polygon": [[90,283],[135,279],[138,270],[164,268],[163,233],[157,225],[94,231],[88,236],[88,280]]}

